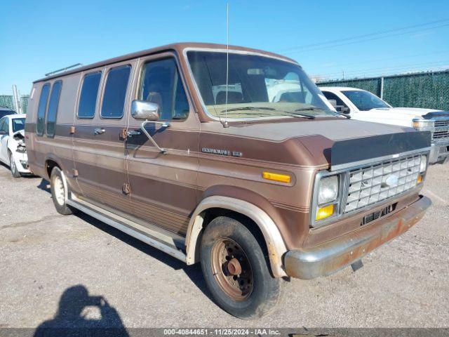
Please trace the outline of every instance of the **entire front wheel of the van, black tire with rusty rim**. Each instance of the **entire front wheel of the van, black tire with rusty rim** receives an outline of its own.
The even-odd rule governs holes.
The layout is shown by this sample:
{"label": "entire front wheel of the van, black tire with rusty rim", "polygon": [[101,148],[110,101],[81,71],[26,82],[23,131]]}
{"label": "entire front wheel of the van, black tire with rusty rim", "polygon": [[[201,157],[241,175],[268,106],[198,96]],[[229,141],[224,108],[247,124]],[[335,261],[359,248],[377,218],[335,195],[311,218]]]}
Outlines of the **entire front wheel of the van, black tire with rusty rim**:
{"label": "entire front wheel of the van, black tire with rusty rim", "polygon": [[217,304],[241,319],[267,315],[281,298],[264,249],[238,220],[219,216],[204,230],[201,268]]}

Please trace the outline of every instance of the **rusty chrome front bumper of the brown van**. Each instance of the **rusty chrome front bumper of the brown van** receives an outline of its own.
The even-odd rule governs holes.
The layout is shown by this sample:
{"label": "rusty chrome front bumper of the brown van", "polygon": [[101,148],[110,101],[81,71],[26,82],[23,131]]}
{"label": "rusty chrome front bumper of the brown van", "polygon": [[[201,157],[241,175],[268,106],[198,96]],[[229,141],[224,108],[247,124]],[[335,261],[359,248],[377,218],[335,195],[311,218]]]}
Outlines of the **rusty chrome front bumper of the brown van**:
{"label": "rusty chrome front bumper of the brown van", "polygon": [[286,273],[290,277],[313,279],[347,267],[406,232],[421,220],[429,206],[431,200],[421,196],[413,204],[379,223],[367,225],[311,249],[288,251],[284,256]]}

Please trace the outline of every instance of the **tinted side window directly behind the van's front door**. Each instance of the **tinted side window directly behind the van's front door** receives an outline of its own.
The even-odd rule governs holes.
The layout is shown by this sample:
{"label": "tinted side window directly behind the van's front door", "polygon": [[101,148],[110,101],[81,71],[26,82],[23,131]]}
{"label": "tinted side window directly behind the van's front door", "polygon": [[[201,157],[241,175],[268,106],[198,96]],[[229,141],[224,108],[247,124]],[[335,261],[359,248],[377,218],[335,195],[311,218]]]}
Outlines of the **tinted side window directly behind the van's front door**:
{"label": "tinted side window directly behind the van's front door", "polygon": [[126,89],[131,71],[130,65],[116,67],[107,74],[105,93],[101,107],[101,117],[121,118],[125,107]]}

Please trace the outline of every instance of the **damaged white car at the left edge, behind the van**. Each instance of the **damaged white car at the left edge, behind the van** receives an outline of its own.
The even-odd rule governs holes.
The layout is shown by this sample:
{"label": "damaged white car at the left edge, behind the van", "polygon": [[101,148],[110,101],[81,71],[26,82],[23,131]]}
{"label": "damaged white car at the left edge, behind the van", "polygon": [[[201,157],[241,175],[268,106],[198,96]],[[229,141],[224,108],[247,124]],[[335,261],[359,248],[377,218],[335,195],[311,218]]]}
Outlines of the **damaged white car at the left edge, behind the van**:
{"label": "damaged white car at the left edge, behind the van", "polygon": [[11,169],[14,178],[30,174],[25,147],[26,114],[10,114],[0,119],[0,161]]}

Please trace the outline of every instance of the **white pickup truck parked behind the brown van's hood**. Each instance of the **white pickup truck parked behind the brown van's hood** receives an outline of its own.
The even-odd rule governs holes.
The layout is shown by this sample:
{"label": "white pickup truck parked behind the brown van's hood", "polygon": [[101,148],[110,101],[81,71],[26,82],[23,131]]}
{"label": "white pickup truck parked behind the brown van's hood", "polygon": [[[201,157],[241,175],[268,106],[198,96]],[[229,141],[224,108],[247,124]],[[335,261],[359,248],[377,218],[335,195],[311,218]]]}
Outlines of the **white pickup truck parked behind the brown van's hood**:
{"label": "white pickup truck parked behind the brown van's hood", "polygon": [[443,164],[449,157],[449,112],[416,107],[391,107],[369,91],[343,86],[320,88],[335,110],[361,121],[408,126],[431,131],[429,164]]}

